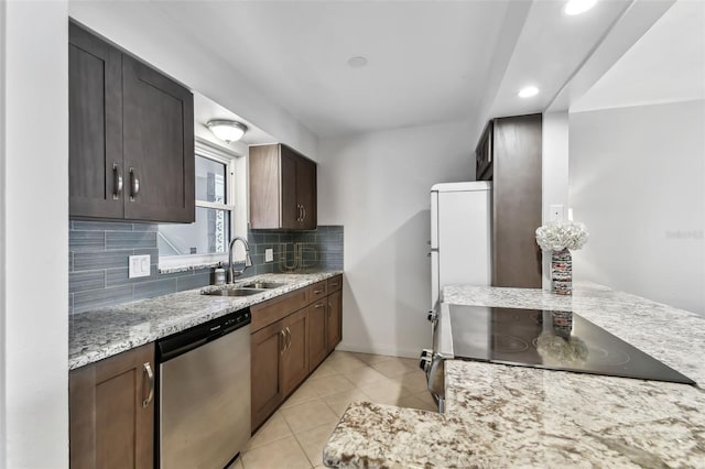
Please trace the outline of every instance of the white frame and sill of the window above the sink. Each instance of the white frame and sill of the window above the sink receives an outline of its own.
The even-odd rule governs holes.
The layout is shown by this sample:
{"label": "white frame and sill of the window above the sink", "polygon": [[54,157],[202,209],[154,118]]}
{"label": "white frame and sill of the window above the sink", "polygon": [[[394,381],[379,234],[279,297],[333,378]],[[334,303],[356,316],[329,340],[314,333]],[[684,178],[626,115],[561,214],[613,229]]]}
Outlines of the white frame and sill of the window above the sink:
{"label": "white frame and sill of the window above the sink", "polygon": [[[207,140],[196,137],[195,145],[194,145],[194,160],[198,156],[205,157],[225,165],[226,203],[220,204],[215,201],[199,200],[195,198],[196,194],[194,193],[195,207],[212,208],[217,210],[228,210],[230,212],[229,236],[230,236],[230,239],[232,239],[236,232],[235,231],[236,219],[238,218],[236,214],[240,209],[240,207],[236,205],[236,200],[237,200],[236,166],[237,166],[237,161],[239,159],[243,159],[245,155],[238,154],[228,149],[216,146],[215,144],[208,142]],[[216,265],[218,263],[227,263],[227,262],[228,262],[227,251],[214,252],[214,253],[202,253],[202,254],[182,254],[182,255],[161,255],[160,254],[159,269],[170,270],[170,269],[194,268],[194,266],[205,268],[208,265]]]}

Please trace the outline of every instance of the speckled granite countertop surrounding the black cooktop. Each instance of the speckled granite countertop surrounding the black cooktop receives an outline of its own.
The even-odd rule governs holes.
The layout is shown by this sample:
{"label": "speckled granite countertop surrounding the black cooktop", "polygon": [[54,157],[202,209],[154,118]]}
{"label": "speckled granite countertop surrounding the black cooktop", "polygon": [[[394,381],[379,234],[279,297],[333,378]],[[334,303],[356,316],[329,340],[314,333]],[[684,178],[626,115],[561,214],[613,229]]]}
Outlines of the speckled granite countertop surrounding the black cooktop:
{"label": "speckled granite countertop surrounding the black cooktop", "polygon": [[[575,310],[705,382],[705,320],[596,284],[574,296],[448,286],[446,303]],[[705,467],[705,390],[471,361],[445,363],[445,414],[347,408],[328,467]]]}

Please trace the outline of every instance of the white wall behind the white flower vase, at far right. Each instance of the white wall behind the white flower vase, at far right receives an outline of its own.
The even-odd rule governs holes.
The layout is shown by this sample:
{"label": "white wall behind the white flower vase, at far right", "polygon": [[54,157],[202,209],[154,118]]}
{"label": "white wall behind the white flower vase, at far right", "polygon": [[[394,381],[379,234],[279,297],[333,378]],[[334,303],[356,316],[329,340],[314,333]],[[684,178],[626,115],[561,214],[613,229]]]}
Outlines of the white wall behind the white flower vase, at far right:
{"label": "white wall behind the white flower vase, at far right", "polygon": [[705,315],[705,101],[571,113],[573,257],[589,280]]}

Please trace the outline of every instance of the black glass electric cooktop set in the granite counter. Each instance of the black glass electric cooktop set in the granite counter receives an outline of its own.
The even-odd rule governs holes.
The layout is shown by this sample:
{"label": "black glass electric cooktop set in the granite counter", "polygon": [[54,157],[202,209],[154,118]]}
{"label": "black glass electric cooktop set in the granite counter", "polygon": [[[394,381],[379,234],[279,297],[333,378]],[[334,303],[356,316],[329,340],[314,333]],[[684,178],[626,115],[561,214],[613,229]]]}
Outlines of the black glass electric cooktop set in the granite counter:
{"label": "black glass electric cooktop set in the granite counter", "polygon": [[456,359],[695,384],[575,313],[453,305],[451,329]]}

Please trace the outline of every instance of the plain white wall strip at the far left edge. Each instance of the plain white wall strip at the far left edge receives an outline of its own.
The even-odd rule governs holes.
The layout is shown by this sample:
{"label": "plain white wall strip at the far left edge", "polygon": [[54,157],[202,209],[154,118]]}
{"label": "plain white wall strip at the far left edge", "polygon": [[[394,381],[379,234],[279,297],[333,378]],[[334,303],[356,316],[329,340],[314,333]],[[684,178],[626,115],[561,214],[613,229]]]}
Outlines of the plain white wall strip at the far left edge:
{"label": "plain white wall strip at the far left edge", "polygon": [[[2,2],[0,466],[68,467],[67,3]],[[36,288],[41,287],[41,294]]]}

